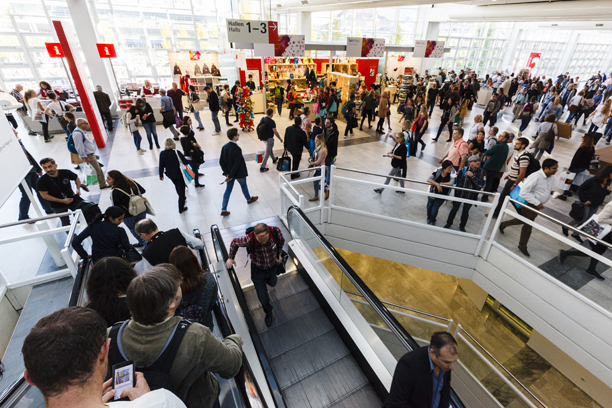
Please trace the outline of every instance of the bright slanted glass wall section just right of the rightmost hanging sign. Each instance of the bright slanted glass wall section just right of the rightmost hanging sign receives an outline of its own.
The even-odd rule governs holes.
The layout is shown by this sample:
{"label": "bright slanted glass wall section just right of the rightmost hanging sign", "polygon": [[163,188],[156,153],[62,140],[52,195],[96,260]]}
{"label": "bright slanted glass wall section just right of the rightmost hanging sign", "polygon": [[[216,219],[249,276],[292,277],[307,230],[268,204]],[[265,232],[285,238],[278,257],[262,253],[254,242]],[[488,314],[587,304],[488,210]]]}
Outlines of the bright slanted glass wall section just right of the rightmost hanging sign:
{"label": "bright slanted glass wall section just right of the rightmost hanging sign", "polygon": [[484,76],[501,69],[514,23],[440,23],[438,41],[451,48],[432,67],[461,70],[470,68]]}

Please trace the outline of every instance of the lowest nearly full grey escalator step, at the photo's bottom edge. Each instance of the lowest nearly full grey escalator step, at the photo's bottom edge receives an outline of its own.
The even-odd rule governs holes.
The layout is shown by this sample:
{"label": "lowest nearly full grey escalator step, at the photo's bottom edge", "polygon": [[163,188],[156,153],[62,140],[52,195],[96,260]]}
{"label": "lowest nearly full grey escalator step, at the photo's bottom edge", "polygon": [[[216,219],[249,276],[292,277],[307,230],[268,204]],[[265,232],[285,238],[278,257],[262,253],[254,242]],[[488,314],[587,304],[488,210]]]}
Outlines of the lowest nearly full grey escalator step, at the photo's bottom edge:
{"label": "lowest nearly full grey escalator step, at the photo's bottom edge", "polygon": [[[366,384],[368,380],[359,365],[353,356],[348,355],[286,388],[283,390],[283,397],[287,406],[291,408],[326,408],[340,402]],[[366,408],[365,405],[362,407]]]}

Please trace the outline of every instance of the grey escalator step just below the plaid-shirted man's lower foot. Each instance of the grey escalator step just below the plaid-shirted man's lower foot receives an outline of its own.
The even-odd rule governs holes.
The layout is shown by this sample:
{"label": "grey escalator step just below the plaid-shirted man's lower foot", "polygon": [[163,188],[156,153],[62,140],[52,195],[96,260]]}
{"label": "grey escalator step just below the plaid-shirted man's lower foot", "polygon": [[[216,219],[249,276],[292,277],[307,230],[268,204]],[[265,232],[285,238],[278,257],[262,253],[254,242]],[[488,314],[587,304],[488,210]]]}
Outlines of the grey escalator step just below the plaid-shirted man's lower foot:
{"label": "grey escalator step just below the plaid-shirted man's lower foot", "polygon": [[268,358],[273,359],[333,329],[323,309],[318,308],[284,324],[273,325],[260,337]]}

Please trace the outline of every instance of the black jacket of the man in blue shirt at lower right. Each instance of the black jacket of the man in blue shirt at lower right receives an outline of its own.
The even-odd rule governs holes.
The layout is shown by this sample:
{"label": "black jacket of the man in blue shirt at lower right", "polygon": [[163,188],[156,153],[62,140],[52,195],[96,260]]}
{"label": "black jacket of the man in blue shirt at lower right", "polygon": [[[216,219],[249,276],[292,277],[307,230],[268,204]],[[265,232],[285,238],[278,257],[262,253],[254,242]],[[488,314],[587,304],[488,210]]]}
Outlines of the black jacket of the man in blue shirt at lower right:
{"label": "black jacket of the man in blue shirt at lower right", "polygon": [[[439,408],[450,405],[451,372],[444,373]],[[433,400],[433,379],[429,365],[429,347],[404,354],[397,362],[391,391],[383,408],[430,408]]]}

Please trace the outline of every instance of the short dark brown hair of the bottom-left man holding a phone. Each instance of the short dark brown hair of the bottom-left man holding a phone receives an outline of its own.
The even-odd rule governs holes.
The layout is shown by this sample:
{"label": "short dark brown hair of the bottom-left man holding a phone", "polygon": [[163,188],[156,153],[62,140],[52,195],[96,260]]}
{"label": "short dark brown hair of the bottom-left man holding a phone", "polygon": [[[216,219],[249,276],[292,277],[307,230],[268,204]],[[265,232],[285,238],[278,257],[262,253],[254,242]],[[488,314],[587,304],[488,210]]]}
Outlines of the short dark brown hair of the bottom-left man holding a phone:
{"label": "short dark brown hair of the bottom-left man holding a phone", "polygon": [[40,319],[21,353],[32,382],[47,399],[89,381],[106,339],[102,316],[74,306]]}

